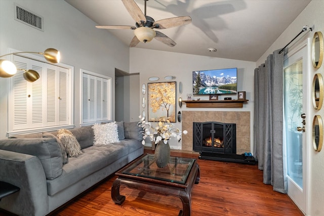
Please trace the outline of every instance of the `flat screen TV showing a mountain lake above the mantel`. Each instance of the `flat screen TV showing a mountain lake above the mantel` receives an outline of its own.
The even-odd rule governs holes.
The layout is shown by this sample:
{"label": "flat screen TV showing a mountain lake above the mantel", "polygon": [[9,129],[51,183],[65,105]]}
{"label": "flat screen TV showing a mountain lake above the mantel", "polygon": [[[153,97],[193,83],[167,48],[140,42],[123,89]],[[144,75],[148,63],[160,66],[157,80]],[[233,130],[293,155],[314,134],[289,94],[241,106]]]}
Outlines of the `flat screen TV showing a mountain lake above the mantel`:
{"label": "flat screen TV showing a mountain lake above the mantel", "polygon": [[193,95],[237,93],[237,68],[192,71]]}

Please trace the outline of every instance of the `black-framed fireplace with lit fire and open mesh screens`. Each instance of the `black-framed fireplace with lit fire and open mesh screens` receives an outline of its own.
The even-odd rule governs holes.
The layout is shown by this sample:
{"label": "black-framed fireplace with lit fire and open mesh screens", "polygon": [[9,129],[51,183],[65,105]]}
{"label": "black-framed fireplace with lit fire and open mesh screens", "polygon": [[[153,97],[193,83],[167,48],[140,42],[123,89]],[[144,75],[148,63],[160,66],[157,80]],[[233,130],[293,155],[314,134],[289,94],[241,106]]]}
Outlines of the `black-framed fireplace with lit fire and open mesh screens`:
{"label": "black-framed fireplace with lit fire and open mesh screens", "polygon": [[236,154],[236,124],[193,122],[193,151]]}

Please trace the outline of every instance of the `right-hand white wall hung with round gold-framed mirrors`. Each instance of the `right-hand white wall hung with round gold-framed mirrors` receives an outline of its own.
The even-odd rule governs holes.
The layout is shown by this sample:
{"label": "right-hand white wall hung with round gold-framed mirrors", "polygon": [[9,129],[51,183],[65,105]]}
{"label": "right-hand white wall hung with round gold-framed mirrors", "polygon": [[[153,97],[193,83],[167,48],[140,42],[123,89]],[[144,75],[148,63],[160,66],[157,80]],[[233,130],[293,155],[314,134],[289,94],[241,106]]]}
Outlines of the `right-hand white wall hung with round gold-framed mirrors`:
{"label": "right-hand white wall hung with round gold-framed mirrors", "polygon": [[[308,25],[313,28],[311,32],[304,32],[301,34],[290,46],[289,50],[296,47],[302,41],[307,38],[312,38],[315,31],[321,31],[324,33],[324,1],[313,0],[304,11],[292,22],[292,24],[277,38],[277,40],[270,46],[270,48],[263,54],[263,56],[257,61],[257,65],[263,63],[266,57],[274,50],[285,47],[285,45],[294,38],[304,25]],[[308,51],[308,55],[311,55],[311,50]],[[323,215],[324,212],[324,150],[321,152],[315,152],[312,147],[312,120],[314,115],[321,115],[324,117],[324,109],[316,111],[312,108],[311,101],[311,86],[315,73],[320,73],[324,76],[324,65],[319,69],[312,67],[312,62],[308,62],[308,116],[306,136],[307,136],[307,176],[308,176],[308,203],[307,203],[307,215]]]}

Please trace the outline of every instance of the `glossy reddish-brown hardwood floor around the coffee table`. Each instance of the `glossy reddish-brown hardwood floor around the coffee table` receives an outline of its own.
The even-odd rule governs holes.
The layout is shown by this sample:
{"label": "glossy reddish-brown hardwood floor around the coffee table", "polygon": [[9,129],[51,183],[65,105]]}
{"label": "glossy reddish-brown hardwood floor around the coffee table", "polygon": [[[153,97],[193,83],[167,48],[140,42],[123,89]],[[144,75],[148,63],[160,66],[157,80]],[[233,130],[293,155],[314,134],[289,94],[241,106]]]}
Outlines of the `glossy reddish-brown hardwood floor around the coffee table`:
{"label": "glossy reddish-brown hardwood floor around the coffee table", "polygon": [[[145,150],[146,153],[151,153]],[[173,156],[197,154],[172,152]],[[262,183],[257,165],[197,159],[200,182],[191,192],[191,215],[303,215],[286,194]],[[179,198],[141,193],[120,187],[126,201],[117,205],[111,200],[111,185],[116,176],[79,196],[54,215],[178,215]]]}

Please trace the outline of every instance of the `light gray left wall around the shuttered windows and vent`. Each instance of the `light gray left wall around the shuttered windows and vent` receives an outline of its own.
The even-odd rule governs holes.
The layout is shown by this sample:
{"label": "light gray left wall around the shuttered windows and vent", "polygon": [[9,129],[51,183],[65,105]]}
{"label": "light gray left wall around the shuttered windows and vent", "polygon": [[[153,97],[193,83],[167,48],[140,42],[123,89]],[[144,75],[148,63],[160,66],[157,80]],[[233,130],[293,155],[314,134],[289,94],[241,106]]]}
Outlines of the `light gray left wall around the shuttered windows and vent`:
{"label": "light gray left wall around the shuttered windows and vent", "polygon": [[[14,20],[14,3],[44,18],[44,32]],[[112,77],[114,118],[115,68],[129,71],[129,48],[63,0],[0,1],[0,55],[12,48],[43,52],[55,48],[61,62],[74,66],[74,124],[80,123],[80,69]],[[0,139],[8,130],[8,80],[0,78]]]}

